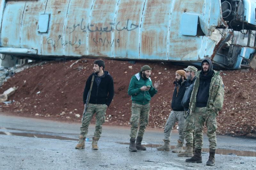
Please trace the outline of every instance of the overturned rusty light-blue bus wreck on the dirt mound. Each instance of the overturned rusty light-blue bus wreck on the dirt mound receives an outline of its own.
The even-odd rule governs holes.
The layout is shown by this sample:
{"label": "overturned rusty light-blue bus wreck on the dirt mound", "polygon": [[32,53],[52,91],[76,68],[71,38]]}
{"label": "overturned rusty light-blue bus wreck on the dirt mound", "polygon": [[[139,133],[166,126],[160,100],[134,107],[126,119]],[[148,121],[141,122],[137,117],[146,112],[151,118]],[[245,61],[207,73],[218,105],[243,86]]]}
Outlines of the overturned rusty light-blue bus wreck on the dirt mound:
{"label": "overturned rusty light-blue bus wreck on the dirt mound", "polygon": [[0,53],[226,69],[255,60],[256,0],[1,0]]}

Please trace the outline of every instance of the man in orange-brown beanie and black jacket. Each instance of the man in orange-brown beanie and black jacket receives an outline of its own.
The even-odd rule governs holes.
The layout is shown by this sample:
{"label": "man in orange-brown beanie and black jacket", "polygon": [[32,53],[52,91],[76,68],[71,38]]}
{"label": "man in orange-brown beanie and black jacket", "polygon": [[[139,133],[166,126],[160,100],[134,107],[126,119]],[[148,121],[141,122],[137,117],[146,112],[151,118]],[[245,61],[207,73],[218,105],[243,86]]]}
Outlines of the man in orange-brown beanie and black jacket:
{"label": "man in orange-brown beanie and black jacket", "polygon": [[179,122],[179,139],[177,146],[172,152],[182,152],[184,142],[183,128],[184,128],[184,108],[181,106],[181,100],[186,90],[186,75],[184,70],[177,70],[175,75],[175,89],[172,96],[172,111],[164,126],[164,145],[156,148],[159,151],[170,151],[170,138],[172,128],[175,122]]}

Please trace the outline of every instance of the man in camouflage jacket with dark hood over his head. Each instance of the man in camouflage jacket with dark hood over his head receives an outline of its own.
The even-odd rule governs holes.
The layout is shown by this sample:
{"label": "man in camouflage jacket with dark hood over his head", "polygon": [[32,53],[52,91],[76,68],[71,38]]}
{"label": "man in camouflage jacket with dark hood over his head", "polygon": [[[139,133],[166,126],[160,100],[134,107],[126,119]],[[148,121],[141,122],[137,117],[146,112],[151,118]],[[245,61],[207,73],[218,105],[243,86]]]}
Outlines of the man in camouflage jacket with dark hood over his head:
{"label": "man in camouflage jacket with dark hood over his head", "polygon": [[201,63],[202,70],[198,72],[190,99],[190,114],[195,121],[195,155],[186,162],[202,163],[201,149],[203,146],[204,122],[207,126],[210,155],[206,165],[215,163],[215,149],[217,144],[216,116],[222,109],[224,101],[224,84],[220,72],[212,70],[212,61],[205,58]]}

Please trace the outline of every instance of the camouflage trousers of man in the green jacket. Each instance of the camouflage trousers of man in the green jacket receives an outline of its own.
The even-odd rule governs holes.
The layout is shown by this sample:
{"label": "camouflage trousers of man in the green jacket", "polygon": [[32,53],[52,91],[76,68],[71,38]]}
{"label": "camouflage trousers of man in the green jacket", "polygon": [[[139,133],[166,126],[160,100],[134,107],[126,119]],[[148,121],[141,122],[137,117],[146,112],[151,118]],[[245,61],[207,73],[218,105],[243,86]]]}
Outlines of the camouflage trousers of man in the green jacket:
{"label": "camouflage trousers of man in the green jacket", "polygon": [[130,119],[131,133],[130,137],[136,137],[138,127],[140,126],[138,137],[143,137],[148,125],[150,104],[140,105],[132,103],[132,116]]}

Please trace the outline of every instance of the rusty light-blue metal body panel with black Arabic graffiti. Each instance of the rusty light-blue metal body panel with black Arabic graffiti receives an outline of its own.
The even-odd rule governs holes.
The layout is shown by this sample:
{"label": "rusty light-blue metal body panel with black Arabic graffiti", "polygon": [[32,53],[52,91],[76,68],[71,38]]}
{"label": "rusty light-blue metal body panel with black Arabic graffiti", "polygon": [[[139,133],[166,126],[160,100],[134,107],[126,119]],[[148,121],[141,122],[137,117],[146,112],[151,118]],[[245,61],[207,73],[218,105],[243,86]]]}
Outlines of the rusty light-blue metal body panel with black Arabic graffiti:
{"label": "rusty light-blue metal body panel with black Arabic graffiti", "polygon": [[[37,49],[38,55],[47,56],[171,61],[210,56],[211,50],[202,43],[211,40],[180,34],[185,12],[199,16],[206,35],[220,23],[220,3],[216,0],[6,1],[1,45]],[[48,33],[37,31],[41,14],[50,15]]]}

